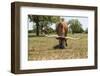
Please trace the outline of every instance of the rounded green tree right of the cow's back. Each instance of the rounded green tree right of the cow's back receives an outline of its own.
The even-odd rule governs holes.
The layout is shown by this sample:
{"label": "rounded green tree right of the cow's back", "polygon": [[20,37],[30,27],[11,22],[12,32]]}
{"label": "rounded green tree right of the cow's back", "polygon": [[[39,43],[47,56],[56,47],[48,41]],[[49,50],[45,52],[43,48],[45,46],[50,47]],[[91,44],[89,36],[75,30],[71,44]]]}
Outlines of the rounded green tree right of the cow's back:
{"label": "rounded green tree right of the cow's back", "polygon": [[68,22],[70,24],[70,28],[72,30],[72,33],[82,33],[84,32],[82,28],[82,24],[79,22],[78,19],[72,19]]}

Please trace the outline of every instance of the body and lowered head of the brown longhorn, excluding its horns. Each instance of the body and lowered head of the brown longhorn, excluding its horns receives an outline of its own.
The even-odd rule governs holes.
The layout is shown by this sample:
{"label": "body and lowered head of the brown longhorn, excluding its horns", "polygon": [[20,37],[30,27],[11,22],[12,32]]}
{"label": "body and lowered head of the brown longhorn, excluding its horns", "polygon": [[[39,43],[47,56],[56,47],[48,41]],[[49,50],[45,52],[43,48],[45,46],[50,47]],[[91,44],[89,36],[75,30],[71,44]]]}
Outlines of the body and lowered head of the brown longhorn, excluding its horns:
{"label": "body and lowered head of the brown longhorn, excluding its horns", "polygon": [[59,48],[63,49],[65,46],[67,46],[67,39],[65,38],[68,33],[68,25],[67,22],[65,22],[64,18],[61,19],[61,21],[56,26],[56,32],[57,32],[57,39],[59,40]]}

